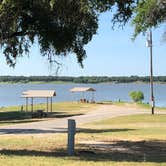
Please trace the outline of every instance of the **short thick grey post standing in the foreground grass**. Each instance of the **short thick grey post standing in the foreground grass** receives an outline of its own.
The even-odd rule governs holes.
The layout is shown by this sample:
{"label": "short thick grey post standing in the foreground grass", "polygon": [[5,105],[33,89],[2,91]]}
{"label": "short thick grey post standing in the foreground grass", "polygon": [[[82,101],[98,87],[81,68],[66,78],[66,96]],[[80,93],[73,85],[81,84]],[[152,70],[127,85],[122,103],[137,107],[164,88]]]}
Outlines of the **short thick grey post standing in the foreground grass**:
{"label": "short thick grey post standing in the foreground grass", "polygon": [[68,155],[74,155],[76,123],[73,119],[68,119]]}

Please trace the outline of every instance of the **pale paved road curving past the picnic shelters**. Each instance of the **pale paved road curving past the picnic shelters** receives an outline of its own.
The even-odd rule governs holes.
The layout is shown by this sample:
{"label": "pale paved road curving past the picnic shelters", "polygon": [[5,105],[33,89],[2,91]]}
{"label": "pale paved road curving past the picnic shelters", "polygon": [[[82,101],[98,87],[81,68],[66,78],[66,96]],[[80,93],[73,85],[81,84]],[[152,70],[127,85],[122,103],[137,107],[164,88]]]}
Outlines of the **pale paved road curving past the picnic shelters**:
{"label": "pale paved road curving past the picnic shelters", "polygon": [[[48,121],[32,122],[0,127],[0,135],[4,134],[40,134],[40,133],[57,133],[67,131],[68,119],[75,119],[77,127],[85,123],[99,121],[106,118],[113,118],[123,115],[150,113],[147,110],[138,110],[138,108],[99,105],[94,111],[85,115],[73,116],[70,118],[51,119]],[[159,113],[159,112],[158,112]]]}

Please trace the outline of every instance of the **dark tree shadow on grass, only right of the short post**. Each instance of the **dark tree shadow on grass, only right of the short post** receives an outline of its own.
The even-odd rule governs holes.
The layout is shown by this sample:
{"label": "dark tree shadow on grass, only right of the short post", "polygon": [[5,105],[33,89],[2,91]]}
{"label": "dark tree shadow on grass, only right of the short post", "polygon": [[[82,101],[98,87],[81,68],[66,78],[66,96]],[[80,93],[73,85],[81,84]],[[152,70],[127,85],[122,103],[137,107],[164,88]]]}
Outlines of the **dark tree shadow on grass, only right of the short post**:
{"label": "dark tree shadow on grass, only right of the short post", "polygon": [[[79,144],[81,160],[166,162],[166,141],[114,141]],[[90,149],[89,152],[86,149]]]}

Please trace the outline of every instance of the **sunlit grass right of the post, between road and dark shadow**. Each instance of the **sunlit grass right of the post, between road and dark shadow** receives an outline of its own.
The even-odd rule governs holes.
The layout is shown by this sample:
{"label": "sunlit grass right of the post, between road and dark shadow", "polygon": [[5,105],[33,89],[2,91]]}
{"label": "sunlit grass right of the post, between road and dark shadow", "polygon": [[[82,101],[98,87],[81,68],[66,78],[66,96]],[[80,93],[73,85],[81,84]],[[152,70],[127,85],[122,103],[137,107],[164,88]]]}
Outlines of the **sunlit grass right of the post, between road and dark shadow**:
{"label": "sunlit grass right of the post, between road and dark shadow", "polygon": [[[166,140],[166,115],[130,115],[84,125],[111,139]],[[103,132],[102,132],[103,131]]]}

